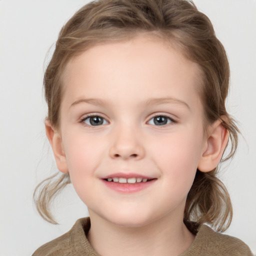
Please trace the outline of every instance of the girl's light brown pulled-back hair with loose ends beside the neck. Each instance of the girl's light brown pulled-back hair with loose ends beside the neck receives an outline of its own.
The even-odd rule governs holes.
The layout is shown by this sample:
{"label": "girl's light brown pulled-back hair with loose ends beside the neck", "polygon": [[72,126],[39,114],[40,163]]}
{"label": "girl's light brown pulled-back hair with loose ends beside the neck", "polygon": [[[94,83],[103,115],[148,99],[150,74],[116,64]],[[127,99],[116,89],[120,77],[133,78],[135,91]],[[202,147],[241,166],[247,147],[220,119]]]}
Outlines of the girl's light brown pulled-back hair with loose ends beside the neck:
{"label": "girl's light brown pulled-back hair with loose ends beside the neck", "polygon": [[[238,129],[225,109],[229,83],[226,53],[208,17],[188,0],[96,0],[80,8],[60,30],[44,74],[46,119],[53,127],[59,127],[61,78],[71,58],[93,45],[127,40],[140,33],[152,34],[171,43],[199,65],[202,76],[199,94],[205,130],[215,120],[222,120],[222,125],[229,131],[230,143],[226,147],[229,152],[222,161],[233,156]],[[209,172],[196,171],[183,218],[190,230],[192,221],[196,225],[209,223],[218,231],[225,230],[230,224],[230,198],[216,174],[217,167]],[[49,210],[50,201],[70,183],[68,173],[56,177],[53,175],[42,181],[34,192],[37,210],[52,223],[56,222]]]}

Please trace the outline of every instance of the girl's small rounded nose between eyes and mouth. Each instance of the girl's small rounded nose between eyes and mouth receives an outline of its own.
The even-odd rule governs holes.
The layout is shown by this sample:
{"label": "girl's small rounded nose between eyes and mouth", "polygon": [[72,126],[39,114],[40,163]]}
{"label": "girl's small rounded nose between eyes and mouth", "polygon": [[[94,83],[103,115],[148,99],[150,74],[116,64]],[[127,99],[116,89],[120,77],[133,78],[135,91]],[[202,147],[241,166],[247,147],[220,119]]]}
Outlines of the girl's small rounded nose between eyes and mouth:
{"label": "girl's small rounded nose between eyes and mouth", "polygon": [[143,158],[145,150],[138,133],[131,127],[119,127],[113,131],[112,144],[109,148],[110,157],[136,160]]}

